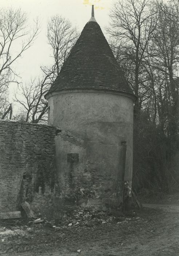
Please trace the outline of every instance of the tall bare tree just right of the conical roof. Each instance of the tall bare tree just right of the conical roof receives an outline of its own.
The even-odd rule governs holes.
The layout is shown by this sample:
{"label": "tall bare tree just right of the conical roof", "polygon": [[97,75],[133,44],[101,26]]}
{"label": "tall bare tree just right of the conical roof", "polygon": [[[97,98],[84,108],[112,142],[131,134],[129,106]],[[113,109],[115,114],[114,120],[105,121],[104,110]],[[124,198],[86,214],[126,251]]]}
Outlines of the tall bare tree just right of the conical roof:
{"label": "tall bare tree just right of the conical roof", "polygon": [[117,1],[110,14],[108,32],[116,39],[117,44],[122,45],[123,56],[126,55],[134,67],[134,93],[138,97],[134,107],[135,116],[140,112],[140,100],[144,94],[139,76],[142,73],[142,61],[147,45],[156,27],[154,16],[155,11],[148,0]]}

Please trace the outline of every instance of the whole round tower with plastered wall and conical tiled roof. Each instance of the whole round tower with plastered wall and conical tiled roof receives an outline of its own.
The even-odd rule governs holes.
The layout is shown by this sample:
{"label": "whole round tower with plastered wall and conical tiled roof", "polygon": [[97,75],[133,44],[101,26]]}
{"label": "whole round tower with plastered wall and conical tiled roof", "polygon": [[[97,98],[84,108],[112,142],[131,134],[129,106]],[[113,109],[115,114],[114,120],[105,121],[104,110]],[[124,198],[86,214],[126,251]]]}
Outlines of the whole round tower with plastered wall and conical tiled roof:
{"label": "whole round tower with plastered wall and conical tiled roof", "polygon": [[[61,197],[79,204],[122,202],[132,180],[135,96],[92,17],[48,91]],[[126,146],[127,145],[127,150]]]}

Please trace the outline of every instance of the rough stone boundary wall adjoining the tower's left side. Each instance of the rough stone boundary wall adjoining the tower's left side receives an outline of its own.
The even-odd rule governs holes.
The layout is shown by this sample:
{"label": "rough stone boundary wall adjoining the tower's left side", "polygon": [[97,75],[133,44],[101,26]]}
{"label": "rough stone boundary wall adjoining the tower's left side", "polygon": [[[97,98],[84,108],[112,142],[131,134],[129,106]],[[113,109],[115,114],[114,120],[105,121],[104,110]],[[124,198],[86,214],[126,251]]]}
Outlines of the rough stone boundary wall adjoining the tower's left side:
{"label": "rough stone boundary wall adjoining the tower's left side", "polygon": [[54,127],[0,121],[0,211],[20,209],[54,182]]}

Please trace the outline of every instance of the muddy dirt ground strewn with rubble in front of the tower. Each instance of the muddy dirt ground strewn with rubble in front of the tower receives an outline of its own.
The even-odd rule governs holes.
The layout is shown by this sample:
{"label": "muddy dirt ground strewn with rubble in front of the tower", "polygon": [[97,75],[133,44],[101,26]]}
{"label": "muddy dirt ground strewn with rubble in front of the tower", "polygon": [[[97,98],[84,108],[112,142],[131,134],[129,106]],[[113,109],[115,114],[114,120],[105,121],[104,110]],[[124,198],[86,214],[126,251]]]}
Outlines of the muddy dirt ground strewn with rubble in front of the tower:
{"label": "muddy dirt ground strewn with rubble in front of the tower", "polygon": [[179,202],[144,204],[127,215],[74,216],[58,225],[1,221],[0,255],[179,256]]}

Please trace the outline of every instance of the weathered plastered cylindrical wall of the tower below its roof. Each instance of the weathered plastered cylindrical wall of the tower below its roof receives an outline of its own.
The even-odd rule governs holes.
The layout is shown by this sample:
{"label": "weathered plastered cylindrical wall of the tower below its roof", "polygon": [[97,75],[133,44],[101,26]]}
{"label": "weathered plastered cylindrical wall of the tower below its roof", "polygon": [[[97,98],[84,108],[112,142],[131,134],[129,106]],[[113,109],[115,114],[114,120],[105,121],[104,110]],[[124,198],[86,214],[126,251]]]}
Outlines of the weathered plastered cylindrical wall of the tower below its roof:
{"label": "weathered plastered cylindrical wall of the tower below its roof", "polygon": [[82,199],[121,202],[123,141],[127,142],[125,180],[132,180],[133,100],[111,93],[66,92],[50,97],[48,105],[49,125],[60,125],[74,136],[64,139],[59,132],[55,138],[64,195],[78,189]]}

